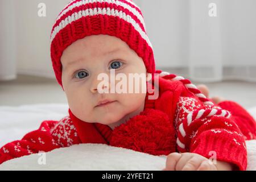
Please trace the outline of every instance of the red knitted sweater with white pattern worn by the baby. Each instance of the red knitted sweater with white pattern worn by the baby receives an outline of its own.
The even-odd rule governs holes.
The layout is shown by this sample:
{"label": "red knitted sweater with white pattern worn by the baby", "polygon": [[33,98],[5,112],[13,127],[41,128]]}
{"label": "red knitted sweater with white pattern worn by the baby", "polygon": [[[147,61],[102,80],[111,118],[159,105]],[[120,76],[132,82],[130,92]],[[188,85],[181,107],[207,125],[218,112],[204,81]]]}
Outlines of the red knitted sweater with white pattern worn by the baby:
{"label": "red knitted sweater with white pattern worn by the baby", "polygon": [[[256,123],[245,109],[233,101],[205,106],[180,81],[159,78],[158,86],[158,99],[148,100],[150,94],[147,94],[144,111],[114,130],[100,123],[81,121],[69,110],[69,116],[60,121],[43,121],[38,130],[0,148],[0,164],[73,144],[103,143],[152,155],[177,151],[210,158],[215,151],[217,160],[246,169],[245,140],[256,138]],[[215,107],[230,111],[232,116],[217,115],[221,111],[205,114]],[[185,118],[189,118],[191,111],[197,115],[189,123]]]}

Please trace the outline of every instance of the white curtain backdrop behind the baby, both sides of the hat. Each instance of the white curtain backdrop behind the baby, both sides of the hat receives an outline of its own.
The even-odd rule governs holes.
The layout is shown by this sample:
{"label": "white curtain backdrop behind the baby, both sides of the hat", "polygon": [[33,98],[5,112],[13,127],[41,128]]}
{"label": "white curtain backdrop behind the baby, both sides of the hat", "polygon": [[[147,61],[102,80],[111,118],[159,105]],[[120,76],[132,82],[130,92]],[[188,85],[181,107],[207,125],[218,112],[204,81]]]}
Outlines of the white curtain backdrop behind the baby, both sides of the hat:
{"label": "white curtain backdrop behind the baby, both sides of the hat", "polygon": [[[0,80],[54,77],[49,36],[70,0],[0,0]],[[158,69],[196,81],[256,81],[255,0],[133,0],[144,14]],[[38,16],[39,3],[46,17]],[[217,17],[209,16],[209,4]]]}

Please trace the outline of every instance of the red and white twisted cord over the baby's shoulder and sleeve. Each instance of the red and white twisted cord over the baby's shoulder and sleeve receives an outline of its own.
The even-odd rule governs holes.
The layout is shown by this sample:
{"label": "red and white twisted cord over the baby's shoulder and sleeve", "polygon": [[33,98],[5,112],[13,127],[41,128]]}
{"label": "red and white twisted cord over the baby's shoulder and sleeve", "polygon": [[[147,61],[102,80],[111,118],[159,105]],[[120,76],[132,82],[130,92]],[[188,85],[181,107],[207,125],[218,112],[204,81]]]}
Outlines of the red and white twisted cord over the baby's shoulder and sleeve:
{"label": "red and white twisted cord over the baby's shoulder and sleeve", "polygon": [[[204,119],[212,116],[221,116],[225,118],[230,118],[231,114],[229,111],[221,109],[220,107],[214,106],[213,102],[209,101],[207,97],[204,96],[203,93],[195,85],[192,84],[191,81],[188,79],[185,79],[181,76],[172,75],[168,72],[162,72],[162,71],[156,71],[157,74],[159,74],[159,77],[165,78],[167,80],[171,81],[180,81],[184,84],[184,86],[191,91],[193,94],[195,94],[196,97],[199,98],[200,101],[203,102],[206,106],[213,106],[211,109],[196,109],[193,110],[191,113],[187,115],[187,118],[184,119],[183,122],[180,123],[178,126],[179,133],[177,134],[177,148],[180,152],[186,152],[187,149],[185,147],[185,144],[182,142],[185,140],[185,137],[187,136],[185,132],[185,128],[187,128],[195,119]],[[185,126],[184,126],[185,125]]]}

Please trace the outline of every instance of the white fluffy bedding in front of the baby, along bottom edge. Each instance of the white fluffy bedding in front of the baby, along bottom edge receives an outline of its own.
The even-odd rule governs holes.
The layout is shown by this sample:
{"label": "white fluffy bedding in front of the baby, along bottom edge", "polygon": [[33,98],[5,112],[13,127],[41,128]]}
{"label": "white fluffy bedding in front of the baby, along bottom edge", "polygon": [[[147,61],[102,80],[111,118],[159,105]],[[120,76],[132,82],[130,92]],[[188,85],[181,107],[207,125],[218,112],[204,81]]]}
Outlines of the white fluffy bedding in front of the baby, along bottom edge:
{"label": "white fluffy bedding in front of the baby, along bottom edge", "polygon": [[[247,170],[256,170],[256,140],[246,141]],[[45,159],[45,160],[44,160]],[[45,164],[44,164],[45,162]],[[9,160],[1,170],[162,170],[166,156],[154,156],[107,146],[105,144],[79,144],[59,148],[45,154],[33,154]]]}

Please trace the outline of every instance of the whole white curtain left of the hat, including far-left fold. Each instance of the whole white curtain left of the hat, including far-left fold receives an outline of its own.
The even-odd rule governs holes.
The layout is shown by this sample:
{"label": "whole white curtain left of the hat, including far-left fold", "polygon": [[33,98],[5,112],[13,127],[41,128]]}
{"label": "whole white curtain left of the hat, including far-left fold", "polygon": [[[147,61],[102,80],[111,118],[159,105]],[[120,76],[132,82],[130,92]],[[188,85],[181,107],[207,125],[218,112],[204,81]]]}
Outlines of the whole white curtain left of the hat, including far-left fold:
{"label": "whole white curtain left of the hat, including far-left fold", "polygon": [[[54,78],[50,57],[51,28],[71,0],[0,0],[0,80],[16,74]],[[44,3],[46,16],[38,11]]]}

